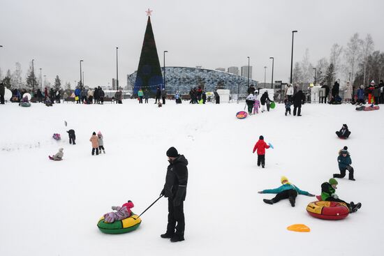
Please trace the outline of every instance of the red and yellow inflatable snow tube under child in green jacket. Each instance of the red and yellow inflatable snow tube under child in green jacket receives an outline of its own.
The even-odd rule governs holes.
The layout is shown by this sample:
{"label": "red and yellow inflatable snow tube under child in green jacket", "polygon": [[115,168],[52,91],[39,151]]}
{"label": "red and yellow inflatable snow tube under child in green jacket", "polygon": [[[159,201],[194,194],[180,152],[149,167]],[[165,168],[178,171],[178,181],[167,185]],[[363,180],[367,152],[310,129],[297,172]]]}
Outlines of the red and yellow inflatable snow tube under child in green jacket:
{"label": "red and yellow inflatable snow tube under child in green jacket", "polygon": [[323,220],[342,220],[349,214],[349,209],[344,203],[316,201],[307,205],[310,216]]}

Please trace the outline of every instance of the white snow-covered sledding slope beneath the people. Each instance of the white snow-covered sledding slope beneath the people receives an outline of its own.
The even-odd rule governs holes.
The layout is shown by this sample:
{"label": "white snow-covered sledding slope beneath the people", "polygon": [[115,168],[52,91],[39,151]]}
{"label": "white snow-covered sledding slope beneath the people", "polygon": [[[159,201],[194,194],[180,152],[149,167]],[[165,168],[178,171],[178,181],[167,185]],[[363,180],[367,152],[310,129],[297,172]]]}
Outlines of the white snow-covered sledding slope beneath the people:
{"label": "white snow-covered sledding slope beneath the people", "polygon": [[[310,105],[301,117],[271,112],[235,118],[243,104],[161,108],[124,100],[123,105],[0,106],[0,255],[383,255],[384,110],[357,112],[351,105]],[[64,121],[68,126],[64,126]],[[334,132],[348,123],[352,135]],[[66,130],[76,131],[75,146]],[[92,132],[104,135],[106,154],[91,156]],[[61,141],[52,139],[61,133]],[[259,135],[271,142],[266,168],[256,165]],[[280,176],[302,190],[339,172],[337,152],[348,146],[355,179],[339,179],[337,194],[362,202],[345,220],[312,218],[313,197],[269,205],[258,190],[276,188]],[[128,234],[108,235],[98,218],[131,199],[141,213],[161,192],[175,146],[189,160],[184,211],[185,241],[161,239],[167,200],[142,216]],[[64,160],[48,154],[64,147]],[[290,232],[303,223],[309,233]]]}

